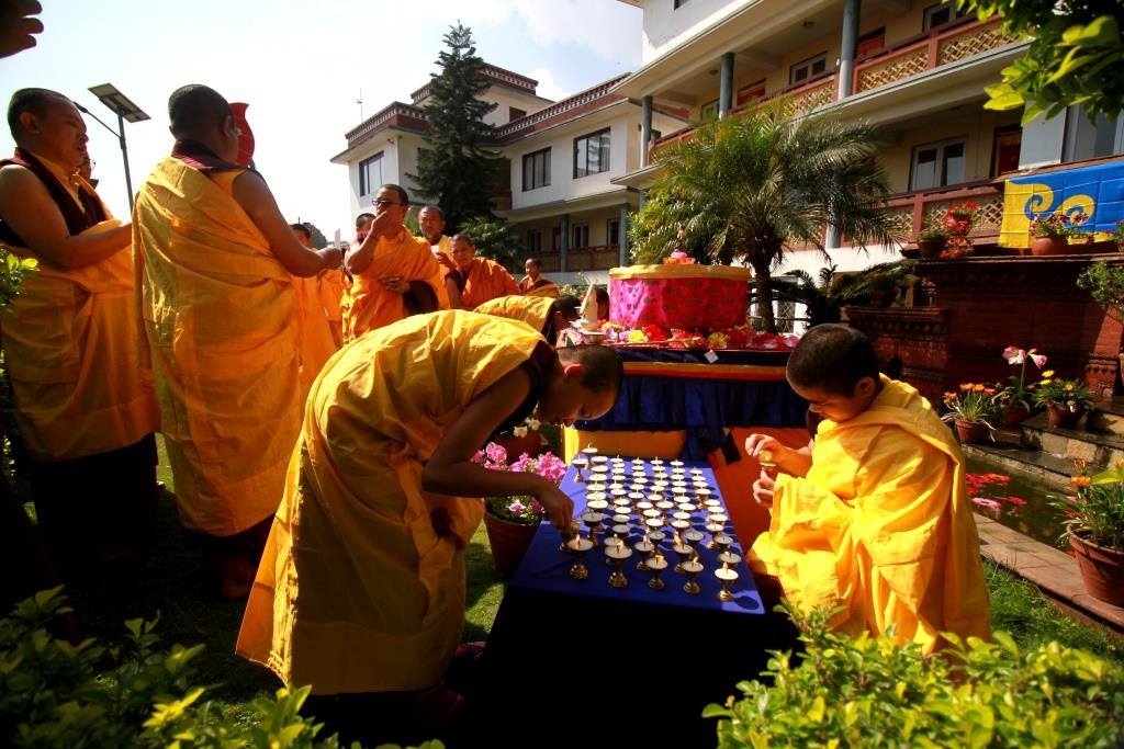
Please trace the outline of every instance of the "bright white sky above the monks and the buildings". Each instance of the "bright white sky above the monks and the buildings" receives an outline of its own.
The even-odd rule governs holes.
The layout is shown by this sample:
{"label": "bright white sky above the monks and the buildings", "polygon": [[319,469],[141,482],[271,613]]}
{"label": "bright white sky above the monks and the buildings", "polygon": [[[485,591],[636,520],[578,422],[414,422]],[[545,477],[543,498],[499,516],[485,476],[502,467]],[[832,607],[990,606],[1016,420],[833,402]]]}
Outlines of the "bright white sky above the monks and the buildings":
{"label": "bright white sky above the monks and the buildings", "polygon": [[[88,89],[112,83],[152,120],[125,125],[134,191],[172,146],[167,97],[205,83],[250,104],[254,161],[290,221],[348,236],[344,133],[436,72],[460,20],[489,63],[561,99],[640,65],[642,11],[616,0],[40,0],[38,46],[0,58],[0,97],[60,91],[116,128]],[[116,135],[87,117],[98,193],[125,220]],[[15,144],[0,128],[0,153]]]}

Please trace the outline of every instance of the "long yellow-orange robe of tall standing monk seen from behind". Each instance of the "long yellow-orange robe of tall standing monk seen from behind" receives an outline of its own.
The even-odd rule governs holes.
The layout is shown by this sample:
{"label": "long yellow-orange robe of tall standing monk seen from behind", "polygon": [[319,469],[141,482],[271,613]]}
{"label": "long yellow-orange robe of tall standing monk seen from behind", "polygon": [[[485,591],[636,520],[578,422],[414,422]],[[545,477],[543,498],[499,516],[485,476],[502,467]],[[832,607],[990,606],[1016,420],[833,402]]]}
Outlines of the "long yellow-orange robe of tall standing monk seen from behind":
{"label": "long yellow-orange robe of tall standing monk seen from behind", "polygon": [[147,356],[185,527],[232,536],[277,510],[300,430],[292,277],[234,177],[167,157],[133,221]]}

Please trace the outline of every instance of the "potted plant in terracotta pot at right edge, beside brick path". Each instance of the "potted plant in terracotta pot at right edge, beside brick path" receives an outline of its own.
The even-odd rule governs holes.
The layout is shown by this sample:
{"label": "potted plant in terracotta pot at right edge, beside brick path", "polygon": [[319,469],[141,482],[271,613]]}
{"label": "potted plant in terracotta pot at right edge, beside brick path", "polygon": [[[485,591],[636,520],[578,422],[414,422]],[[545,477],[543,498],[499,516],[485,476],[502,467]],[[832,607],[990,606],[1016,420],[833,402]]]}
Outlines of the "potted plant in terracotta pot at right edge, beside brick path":
{"label": "potted plant in terracotta pot at right edge, beside brick path", "polygon": [[1124,462],[1095,476],[1071,479],[1073,494],[1051,504],[1064,515],[1068,540],[1085,590],[1095,599],[1124,606]]}

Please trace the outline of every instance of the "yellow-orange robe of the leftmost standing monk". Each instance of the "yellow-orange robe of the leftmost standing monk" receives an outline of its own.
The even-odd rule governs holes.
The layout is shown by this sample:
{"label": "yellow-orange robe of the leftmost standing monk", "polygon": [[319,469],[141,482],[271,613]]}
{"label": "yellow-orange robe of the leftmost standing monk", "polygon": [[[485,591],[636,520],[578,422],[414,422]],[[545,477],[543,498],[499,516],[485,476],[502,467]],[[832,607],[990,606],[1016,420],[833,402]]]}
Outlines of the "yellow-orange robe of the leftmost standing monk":
{"label": "yellow-orange robe of the leftmost standing monk", "polygon": [[[75,194],[69,175],[38,157]],[[94,193],[92,186],[85,191]],[[106,211],[109,216],[109,211]],[[83,234],[120,226],[107,219]],[[21,257],[25,248],[6,247]],[[133,445],[160,428],[151,380],[137,368],[133,255],[127,245],[76,271],[40,261],[0,316],[16,422],[36,460],[72,460]]]}

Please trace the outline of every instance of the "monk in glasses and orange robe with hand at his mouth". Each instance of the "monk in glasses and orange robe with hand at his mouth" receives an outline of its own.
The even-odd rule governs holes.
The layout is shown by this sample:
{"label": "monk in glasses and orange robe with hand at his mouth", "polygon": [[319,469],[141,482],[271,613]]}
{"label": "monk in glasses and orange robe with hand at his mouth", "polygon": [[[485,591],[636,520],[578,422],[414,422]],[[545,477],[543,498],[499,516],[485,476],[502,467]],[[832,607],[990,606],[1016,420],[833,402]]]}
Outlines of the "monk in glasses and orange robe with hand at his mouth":
{"label": "monk in glasses and orange robe with hand at his mouth", "polygon": [[409,194],[397,184],[375,193],[370,234],[347,253],[354,282],[343,314],[346,341],[420,310],[448,309],[441,265],[402,223],[409,209]]}

